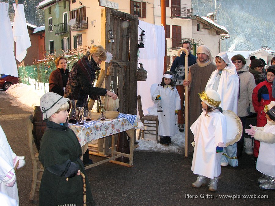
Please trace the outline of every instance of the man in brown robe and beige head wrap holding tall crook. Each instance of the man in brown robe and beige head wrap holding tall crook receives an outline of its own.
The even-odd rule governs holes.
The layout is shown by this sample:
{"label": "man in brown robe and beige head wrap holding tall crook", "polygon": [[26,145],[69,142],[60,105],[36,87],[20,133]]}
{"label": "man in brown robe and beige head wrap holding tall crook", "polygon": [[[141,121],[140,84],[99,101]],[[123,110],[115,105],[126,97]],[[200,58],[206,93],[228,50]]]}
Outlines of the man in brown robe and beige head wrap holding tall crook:
{"label": "man in brown robe and beige head wrap holding tall crook", "polygon": [[[183,80],[183,86],[188,86],[190,91],[189,98],[189,112],[188,112],[188,124],[192,125],[201,114],[201,101],[198,93],[205,90],[208,79],[212,72],[217,69],[213,63],[210,50],[205,45],[201,45],[197,49],[198,62],[193,64],[189,68],[188,81]],[[200,108],[200,109],[198,109]],[[188,128],[188,149],[189,152],[193,152],[194,148],[191,142],[194,139],[194,135]]]}

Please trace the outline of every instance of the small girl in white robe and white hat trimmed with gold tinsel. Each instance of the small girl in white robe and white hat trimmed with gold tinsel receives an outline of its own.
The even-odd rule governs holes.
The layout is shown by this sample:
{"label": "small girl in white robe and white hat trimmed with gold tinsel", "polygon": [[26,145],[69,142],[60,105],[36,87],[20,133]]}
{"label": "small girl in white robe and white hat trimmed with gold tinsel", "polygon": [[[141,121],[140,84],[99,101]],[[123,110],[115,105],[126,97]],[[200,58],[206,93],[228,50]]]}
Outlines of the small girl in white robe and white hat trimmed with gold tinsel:
{"label": "small girl in white robe and white hat trimmed with gold tinsel", "polygon": [[208,177],[211,179],[208,190],[216,191],[221,174],[221,152],[226,142],[226,118],[218,107],[221,103],[218,92],[210,89],[199,96],[203,112],[190,127],[195,145],[191,170],[198,175],[192,186],[205,186]]}

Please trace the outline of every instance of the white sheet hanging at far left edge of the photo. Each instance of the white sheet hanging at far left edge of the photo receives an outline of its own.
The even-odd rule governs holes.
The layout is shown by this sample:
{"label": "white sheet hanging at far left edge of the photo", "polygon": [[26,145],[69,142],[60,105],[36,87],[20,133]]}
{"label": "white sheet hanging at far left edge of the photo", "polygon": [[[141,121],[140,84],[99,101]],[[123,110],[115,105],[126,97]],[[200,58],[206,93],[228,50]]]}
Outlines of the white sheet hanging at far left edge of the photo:
{"label": "white sheet hanging at far left edge of the photo", "polygon": [[0,74],[18,77],[13,52],[13,31],[9,20],[9,4],[0,2]]}

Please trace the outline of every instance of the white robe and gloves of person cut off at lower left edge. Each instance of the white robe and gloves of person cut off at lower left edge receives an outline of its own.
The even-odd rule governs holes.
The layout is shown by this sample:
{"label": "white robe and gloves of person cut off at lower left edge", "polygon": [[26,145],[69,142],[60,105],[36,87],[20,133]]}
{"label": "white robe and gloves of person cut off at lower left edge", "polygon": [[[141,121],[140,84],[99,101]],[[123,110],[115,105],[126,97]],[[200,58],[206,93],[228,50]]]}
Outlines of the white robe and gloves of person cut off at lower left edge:
{"label": "white robe and gloves of person cut off at lower left edge", "polygon": [[14,165],[19,161],[17,168],[24,166],[24,157],[18,157],[9,146],[6,135],[0,126],[0,192],[16,200],[19,205],[18,189]]}

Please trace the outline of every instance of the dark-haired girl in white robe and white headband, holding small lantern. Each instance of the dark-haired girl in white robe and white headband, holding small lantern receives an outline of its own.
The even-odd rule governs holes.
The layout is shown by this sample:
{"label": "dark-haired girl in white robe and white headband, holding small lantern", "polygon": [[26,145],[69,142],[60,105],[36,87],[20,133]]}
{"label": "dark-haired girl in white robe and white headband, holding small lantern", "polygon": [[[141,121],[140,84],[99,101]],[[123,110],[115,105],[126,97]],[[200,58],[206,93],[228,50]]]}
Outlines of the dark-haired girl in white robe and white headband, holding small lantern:
{"label": "dark-haired girl in white robe and white headband, holding small lantern", "polygon": [[175,114],[181,109],[181,99],[170,71],[163,74],[160,85],[152,95],[152,101],[158,109],[160,143],[167,146],[171,143],[170,137],[176,134]]}

